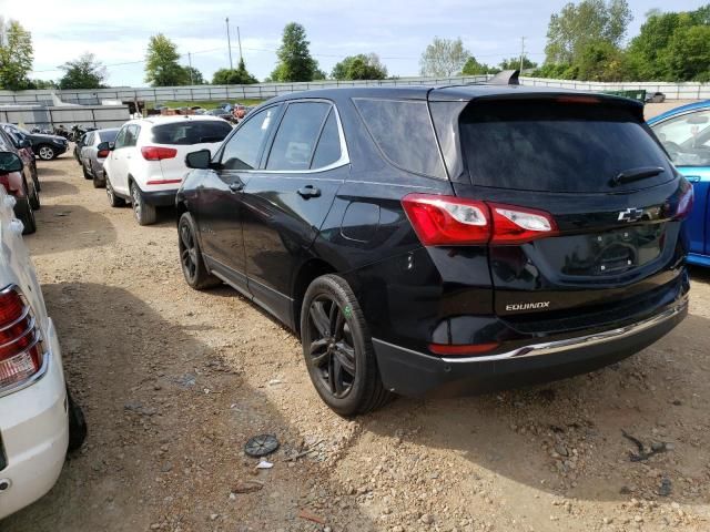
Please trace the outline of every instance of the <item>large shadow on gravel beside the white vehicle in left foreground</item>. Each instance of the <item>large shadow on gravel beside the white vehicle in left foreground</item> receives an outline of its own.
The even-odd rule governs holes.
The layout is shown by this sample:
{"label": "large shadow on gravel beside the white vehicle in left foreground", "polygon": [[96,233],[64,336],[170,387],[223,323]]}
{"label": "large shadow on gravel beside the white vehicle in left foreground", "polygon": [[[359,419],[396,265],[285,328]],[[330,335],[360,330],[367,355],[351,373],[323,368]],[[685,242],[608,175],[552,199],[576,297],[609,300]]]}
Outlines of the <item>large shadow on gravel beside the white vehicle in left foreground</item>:
{"label": "large shadow on gravel beside the white vehicle in left foreground", "polygon": [[[288,468],[277,451],[273,469],[256,474],[257,460],[242,452],[254,434],[278,434],[282,450],[301,437],[239,368],[122,288],[78,283],[43,291],[89,438],[51,492],[0,531],[316,530],[297,516],[308,509],[312,471]],[[254,480],[263,488],[230,498]],[[320,489],[320,500],[336,497]],[[354,508],[341,510],[339,521],[310,512],[338,531],[344,523],[374,529]]]}

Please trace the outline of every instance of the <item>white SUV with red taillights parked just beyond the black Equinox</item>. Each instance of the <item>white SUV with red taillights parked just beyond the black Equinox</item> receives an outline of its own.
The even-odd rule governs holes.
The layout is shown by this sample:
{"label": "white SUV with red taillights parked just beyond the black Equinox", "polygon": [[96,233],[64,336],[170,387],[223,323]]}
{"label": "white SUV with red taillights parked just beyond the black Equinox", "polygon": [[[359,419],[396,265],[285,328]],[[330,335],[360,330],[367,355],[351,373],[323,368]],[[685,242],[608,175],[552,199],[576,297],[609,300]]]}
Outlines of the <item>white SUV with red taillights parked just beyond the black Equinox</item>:
{"label": "white SUV with red taillights parked just beyond the black Equinox", "polygon": [[113,207],[130,202],[141,225],[155,223],[156,207],[175,205],[187,173],[185,155],[215,150],[232,132],[216,116],[178,115],[132,120],[123,124],[103,163],[106,195]]}

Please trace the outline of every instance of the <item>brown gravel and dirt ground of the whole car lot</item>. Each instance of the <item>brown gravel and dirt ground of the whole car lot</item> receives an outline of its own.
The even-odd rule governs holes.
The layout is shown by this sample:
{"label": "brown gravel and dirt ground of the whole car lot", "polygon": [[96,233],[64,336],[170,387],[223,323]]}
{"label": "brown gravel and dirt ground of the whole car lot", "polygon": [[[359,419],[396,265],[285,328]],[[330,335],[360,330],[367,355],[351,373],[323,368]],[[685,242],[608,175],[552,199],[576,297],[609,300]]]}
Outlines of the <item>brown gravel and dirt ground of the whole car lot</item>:
{"label": "brown gravel and dirt ground of the whole car lot", "polygon": [[[138,226],[70,155],[40,177],[27,241],[90,432],[0,531],[710,530],[707,272],[688,319],[619,365],[345,420],[294,336],[186,286],[172,213]],[[632,460],[625,431],[657,452]],[[261,433],[281,441],[272,469],[243,452]]]}

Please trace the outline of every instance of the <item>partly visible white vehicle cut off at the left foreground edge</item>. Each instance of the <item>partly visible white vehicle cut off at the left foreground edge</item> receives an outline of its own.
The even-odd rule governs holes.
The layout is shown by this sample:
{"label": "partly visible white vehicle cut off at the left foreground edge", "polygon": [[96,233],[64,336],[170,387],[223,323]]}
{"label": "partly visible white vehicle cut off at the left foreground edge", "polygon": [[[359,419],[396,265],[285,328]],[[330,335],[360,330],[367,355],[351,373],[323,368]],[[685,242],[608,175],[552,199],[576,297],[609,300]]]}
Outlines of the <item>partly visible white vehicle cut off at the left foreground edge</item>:
{"label": "partly visible white vehicle cut off at the left foreground edge", "polygon": [[[0,173],[18,161],[0,152]],[[0,519],[47,493],[85,436],[13,206],[0,186]]]}

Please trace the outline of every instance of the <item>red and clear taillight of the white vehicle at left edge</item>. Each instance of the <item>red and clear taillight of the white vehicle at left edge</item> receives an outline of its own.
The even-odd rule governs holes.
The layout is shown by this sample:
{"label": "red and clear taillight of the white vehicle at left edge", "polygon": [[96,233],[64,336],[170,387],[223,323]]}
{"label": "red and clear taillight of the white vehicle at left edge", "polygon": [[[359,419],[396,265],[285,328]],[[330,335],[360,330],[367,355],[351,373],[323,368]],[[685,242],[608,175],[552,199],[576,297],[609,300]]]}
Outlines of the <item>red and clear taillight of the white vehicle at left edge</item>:
{"label": "red and clear taillight of the white vehicle at left edge", "polygon": [[44,349],[34,315],[19,289],[0,291],[0,390],[42,368]]}

